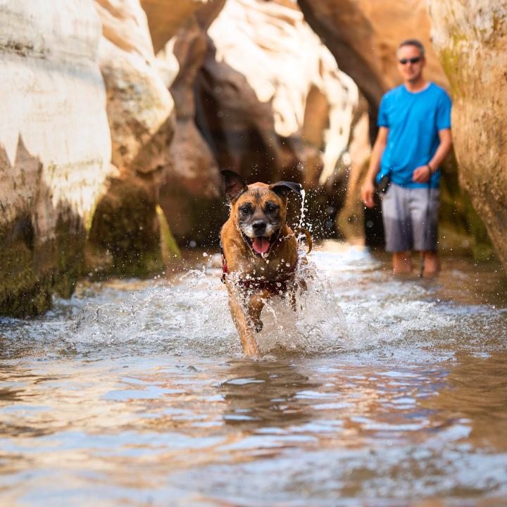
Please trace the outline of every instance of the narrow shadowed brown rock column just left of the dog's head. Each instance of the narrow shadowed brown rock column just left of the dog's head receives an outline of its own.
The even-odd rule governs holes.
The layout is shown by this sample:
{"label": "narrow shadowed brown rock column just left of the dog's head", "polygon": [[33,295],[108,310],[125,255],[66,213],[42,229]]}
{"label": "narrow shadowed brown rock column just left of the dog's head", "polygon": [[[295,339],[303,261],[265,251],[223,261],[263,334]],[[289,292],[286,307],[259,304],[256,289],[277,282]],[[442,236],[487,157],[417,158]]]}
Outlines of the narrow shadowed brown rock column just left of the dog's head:
{"label": "narrow shadowed brown rock column just left of the dog's head", "polygon": [[177,76],[164,72],[175,100],[177,123],[167,180],[161,187],[161,206],[182,244],[215,243],[222,221],[218,165],[195,124],[194,81],[204,63],[207,44],[206,32],[194,15],[157,55],[163,70],[172,58],[180,69]]}

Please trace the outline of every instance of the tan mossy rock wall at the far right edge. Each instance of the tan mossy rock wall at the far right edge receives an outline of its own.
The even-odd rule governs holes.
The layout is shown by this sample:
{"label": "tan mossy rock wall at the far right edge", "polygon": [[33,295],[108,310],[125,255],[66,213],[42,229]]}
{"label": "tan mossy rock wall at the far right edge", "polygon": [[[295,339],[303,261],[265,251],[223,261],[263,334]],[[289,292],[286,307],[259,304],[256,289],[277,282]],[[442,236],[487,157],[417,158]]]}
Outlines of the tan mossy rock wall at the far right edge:
{"label": "tan mossy rock wall at the far right edge", "polygon": [[507,268],[507,2],[428,1],[453,96],[461,184]]}

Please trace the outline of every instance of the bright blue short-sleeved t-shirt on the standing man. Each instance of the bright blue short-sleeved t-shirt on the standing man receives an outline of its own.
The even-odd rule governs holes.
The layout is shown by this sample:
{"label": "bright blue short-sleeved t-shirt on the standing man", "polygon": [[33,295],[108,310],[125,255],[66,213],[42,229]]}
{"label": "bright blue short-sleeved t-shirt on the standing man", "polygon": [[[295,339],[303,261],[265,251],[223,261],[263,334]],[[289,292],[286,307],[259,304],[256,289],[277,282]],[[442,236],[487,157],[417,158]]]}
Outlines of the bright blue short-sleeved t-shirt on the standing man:
{"label": "bright blue short-sleeved t-shirt on the standing man", "polygon": [[[377,125],[389,129],[377,182],[390,172],[391,181],[401,187],[427,187],[412,180],[413,171],[437,151],[439,130],[451,128],[451,99],[445,90],[430,83],[412,93],[401,84],[382,97]],[[440,170],[436,170],[431,187],[438,188],[439,182]]]}

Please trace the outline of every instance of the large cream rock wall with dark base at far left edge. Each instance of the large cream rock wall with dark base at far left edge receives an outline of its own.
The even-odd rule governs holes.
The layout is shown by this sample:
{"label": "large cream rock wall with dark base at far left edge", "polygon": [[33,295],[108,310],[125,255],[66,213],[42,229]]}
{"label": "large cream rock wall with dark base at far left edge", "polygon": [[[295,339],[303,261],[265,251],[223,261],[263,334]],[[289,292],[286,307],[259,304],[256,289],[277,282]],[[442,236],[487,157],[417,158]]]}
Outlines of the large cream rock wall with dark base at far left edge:
{"label": "large cream rock wall with dark base at far left edge", "polygon": [[110,172],[94,6],[0,6],[0,314],[46,309],[73,288]]}

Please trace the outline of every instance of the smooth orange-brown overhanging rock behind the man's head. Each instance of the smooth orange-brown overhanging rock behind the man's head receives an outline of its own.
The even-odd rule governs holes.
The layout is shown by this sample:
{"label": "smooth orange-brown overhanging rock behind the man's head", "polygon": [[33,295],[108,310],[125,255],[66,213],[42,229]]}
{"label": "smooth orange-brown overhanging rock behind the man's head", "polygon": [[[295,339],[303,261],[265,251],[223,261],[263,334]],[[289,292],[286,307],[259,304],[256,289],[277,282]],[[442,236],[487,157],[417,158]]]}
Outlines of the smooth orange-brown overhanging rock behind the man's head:
{"label": "smooth orange-brown overhanging rock behind the man's head", "polygon": [[306,20],[323,38],[339,67],[351,76],[370,104],[401,83],[396,47],[420,39],[427,50],[426,77],[447,87],[430,43],[425,0],[298,0]]}

